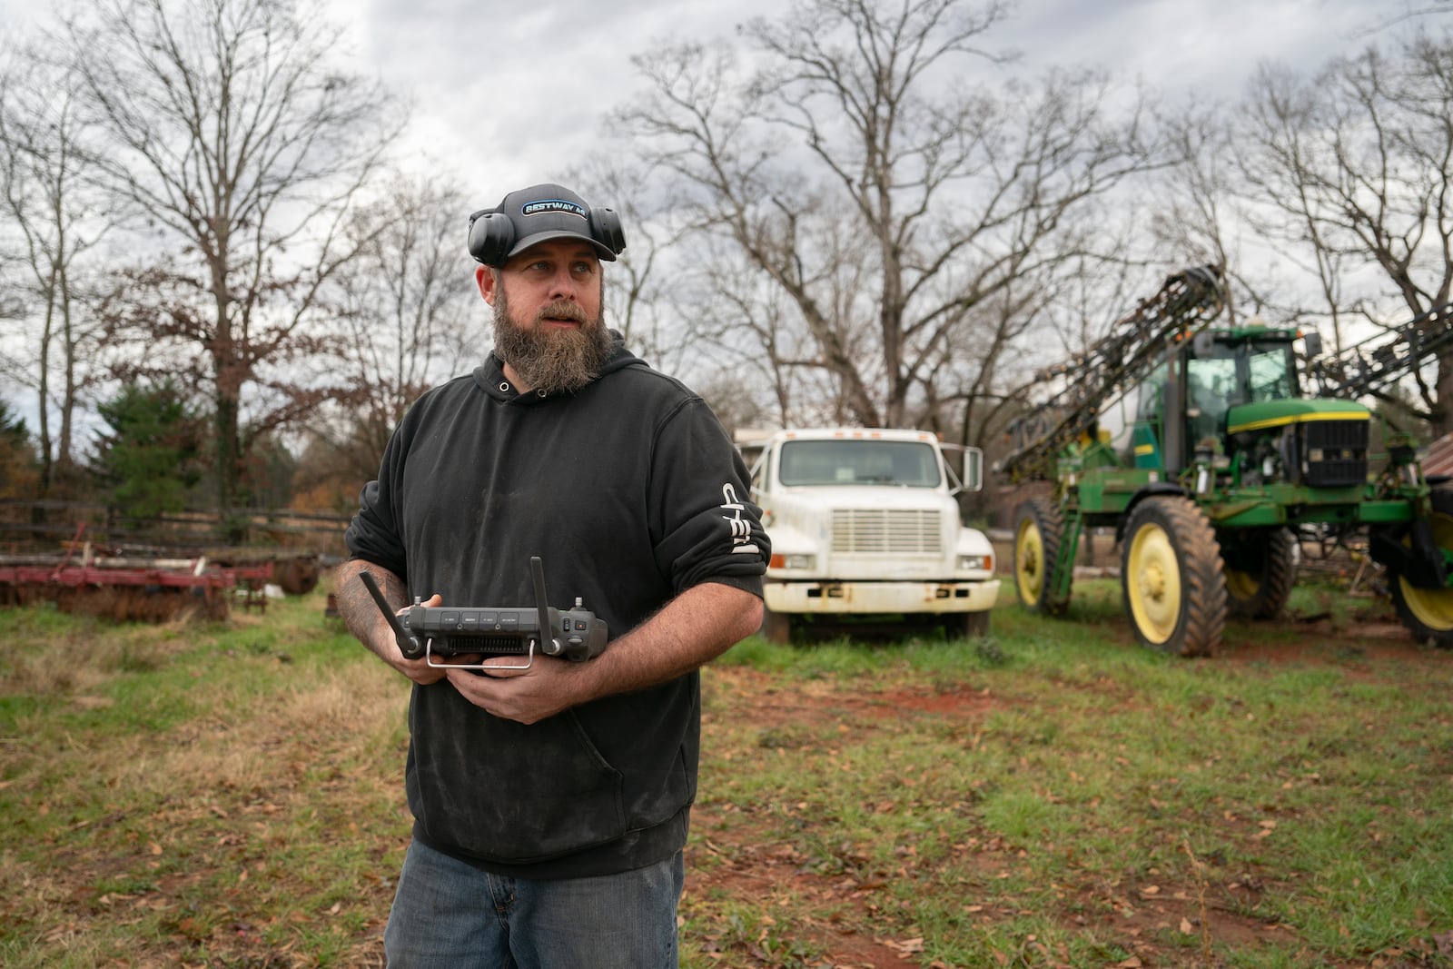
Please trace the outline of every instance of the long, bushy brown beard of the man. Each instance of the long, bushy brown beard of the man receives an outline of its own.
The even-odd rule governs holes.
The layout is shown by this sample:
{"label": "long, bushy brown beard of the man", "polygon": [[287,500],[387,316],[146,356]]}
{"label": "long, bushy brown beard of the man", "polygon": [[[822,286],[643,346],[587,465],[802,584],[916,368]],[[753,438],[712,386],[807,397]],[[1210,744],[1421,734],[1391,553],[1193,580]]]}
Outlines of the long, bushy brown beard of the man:
{"label": "long, bushy brown beard of the man", "polygon": [[[580,328],[551,327],[542,323],[545,318],[574,320]],[[600,375],[610,356],[604,309],[588,320],[578,304],[559,301],[543,307],[535,320],[520,325],[510,320],[504,286],[500,286],[494,298],[494,353],[513,366],[520,382],[532,391],[578,391]]]}

